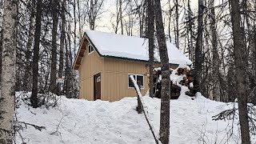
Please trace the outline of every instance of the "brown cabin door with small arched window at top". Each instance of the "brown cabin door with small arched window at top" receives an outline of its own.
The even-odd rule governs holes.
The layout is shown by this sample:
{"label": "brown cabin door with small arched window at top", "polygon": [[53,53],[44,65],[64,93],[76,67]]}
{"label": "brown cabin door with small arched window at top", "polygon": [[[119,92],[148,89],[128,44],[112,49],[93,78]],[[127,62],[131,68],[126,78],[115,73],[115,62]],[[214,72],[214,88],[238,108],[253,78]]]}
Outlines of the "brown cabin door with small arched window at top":
{"label": "brown cabin door with small arched window at top", "polygon": [[101,99],[101,74],[94,75],[94,101]]}

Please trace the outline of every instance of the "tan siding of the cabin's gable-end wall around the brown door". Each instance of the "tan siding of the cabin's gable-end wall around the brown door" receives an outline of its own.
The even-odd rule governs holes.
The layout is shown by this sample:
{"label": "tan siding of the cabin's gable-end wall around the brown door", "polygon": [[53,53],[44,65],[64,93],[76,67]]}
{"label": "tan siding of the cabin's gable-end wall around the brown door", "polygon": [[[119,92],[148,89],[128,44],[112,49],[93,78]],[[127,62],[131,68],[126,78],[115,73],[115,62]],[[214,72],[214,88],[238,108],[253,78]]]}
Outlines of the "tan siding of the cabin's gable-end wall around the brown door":
{"label": "tan siding of the cabin's gable-end wall around the brown door", "polygon": [[85,53],[86,54],[82,59],[82,64],[79,67],[79,78],[80,78],[79,98],[85,98],[87,100],[93,101],[94,100],[94,74],[98,74],[98,73],[102,74],[103,58],[100,58],[95,50],[93,53],[88,54],[88,50],[86,49]]}

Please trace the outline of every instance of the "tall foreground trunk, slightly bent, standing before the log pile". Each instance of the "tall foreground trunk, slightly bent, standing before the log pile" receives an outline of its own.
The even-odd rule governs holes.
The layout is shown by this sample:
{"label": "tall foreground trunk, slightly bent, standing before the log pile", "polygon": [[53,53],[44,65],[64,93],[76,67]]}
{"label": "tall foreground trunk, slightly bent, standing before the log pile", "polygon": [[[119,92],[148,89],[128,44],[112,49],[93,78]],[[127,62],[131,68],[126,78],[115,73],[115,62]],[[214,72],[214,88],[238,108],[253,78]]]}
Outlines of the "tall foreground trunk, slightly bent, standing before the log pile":
{"label": "tall foreground trunk, slightly bent, standing before the log pile", "polygon": [[170,67],[166,47],[166,38],[162,22],[162,8],[160,0],[155,1],[155,20],[157,28],[159,54],[162,71],[161,114],[160,114],[160,141],[169,143],[170,135]]}

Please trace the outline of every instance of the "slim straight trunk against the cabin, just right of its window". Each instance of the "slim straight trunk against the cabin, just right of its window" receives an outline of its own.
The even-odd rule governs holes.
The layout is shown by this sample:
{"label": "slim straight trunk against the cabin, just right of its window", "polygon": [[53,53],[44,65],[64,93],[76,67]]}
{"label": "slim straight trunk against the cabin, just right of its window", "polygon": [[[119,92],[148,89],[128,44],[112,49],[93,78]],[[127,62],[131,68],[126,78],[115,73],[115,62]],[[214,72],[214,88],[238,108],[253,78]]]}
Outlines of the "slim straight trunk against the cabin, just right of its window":
{"label": "slim straight trunk against the cabin, just right of its window", "polygon": [[149,38],[149,56],[150,56],[150,97],[154,94],[154,4],[153,0],[147,1],[147,20],[148,20],[148,38]]}

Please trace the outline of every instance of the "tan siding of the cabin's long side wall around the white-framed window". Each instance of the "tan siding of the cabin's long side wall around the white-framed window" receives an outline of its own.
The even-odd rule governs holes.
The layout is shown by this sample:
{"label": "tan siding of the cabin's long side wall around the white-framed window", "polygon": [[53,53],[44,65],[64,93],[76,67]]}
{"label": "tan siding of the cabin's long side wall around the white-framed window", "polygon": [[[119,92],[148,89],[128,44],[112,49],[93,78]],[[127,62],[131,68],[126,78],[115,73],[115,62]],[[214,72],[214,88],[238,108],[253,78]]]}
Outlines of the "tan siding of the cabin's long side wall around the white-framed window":
{"label": "tan siding of the cabin's long side wall around the white-framed window", "polygon": [[110,102],[118,101],[124,97],[134,97],[134,88],[128,87],[128,74],[144,75],[144,89],[142,94],[148,90],[148,77],[146,62],[122,60],[116,58],[104,58],[105,81],[102,81],[104,99]]}

